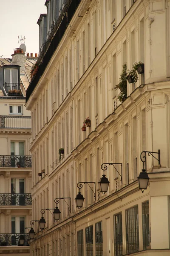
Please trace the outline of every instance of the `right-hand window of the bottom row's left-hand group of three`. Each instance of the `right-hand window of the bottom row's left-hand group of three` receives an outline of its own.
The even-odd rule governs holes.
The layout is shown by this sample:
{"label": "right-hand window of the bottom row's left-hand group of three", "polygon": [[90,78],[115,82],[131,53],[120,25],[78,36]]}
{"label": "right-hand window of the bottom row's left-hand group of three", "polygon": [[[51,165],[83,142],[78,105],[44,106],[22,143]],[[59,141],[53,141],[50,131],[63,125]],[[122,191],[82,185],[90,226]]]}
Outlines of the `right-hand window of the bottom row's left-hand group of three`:
{"label": "right-hand window of the bottom row's left-hand group of three", "polygon": [[103,256],[102,221],[95,224],[96,256]]}

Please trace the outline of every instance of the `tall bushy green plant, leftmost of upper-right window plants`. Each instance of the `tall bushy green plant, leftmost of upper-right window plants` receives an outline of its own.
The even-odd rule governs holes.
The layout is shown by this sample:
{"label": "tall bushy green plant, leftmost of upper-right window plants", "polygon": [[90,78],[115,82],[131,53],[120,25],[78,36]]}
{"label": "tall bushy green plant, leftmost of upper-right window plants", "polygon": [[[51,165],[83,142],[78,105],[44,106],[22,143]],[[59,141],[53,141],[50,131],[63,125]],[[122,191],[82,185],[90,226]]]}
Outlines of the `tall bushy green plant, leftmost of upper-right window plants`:
{"label": "tall bushy green plant, leftmost of upper-right window plants", "polygon": [[[119,102],[123,102],[127,98],[127,73],[126,73],[126,63],[122,66],[122,73],[120,74],[119,83],[116,85],[115,89],[119,89],[120,93],[118,94]],[[111,90],[114,90],[112,88]]]}

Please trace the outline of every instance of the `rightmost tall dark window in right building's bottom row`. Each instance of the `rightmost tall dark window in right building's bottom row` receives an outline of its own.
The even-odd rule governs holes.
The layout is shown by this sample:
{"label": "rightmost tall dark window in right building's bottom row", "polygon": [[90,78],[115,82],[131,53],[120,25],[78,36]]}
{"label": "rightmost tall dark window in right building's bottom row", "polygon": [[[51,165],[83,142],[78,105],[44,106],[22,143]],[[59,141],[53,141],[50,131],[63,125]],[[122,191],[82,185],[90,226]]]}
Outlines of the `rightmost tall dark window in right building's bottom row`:
{"label": "rightmost tall dark window in right building's bottom row", "polygon": [[150,249],[149,201],[142,203],[143,250]]}

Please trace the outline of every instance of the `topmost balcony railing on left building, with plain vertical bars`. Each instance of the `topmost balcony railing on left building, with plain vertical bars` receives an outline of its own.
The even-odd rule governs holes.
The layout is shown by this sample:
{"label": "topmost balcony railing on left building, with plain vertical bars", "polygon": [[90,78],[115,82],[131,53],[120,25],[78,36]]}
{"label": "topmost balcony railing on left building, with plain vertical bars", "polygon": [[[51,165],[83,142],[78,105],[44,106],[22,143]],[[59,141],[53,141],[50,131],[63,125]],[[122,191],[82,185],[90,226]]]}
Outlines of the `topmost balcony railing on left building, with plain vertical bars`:
{"label": "topmost balcony railing on left building, with plain vertical bars", "polygon": [[0,128],[31,128],[31,116],[0,116]]}

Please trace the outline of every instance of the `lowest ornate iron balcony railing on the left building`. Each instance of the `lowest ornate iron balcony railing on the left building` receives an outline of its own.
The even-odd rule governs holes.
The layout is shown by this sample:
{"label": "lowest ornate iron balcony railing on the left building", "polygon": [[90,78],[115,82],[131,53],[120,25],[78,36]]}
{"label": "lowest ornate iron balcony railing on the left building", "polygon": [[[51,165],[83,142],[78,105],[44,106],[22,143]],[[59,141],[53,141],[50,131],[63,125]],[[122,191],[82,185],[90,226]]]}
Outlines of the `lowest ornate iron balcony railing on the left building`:
{"label": "lowest ornate iron balcony railing on the left building", "polygon": [[[24,236],[24,244],[22,245],[19,243],[20,235]],[[28,234],[0,234],[0,246],[29,246],[28,239]]]}

